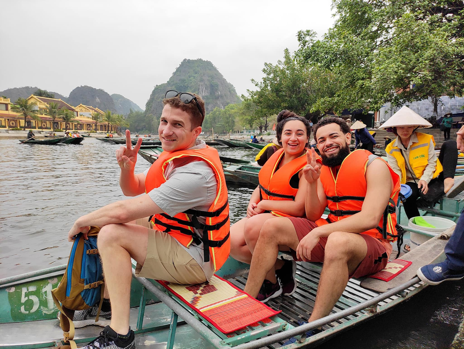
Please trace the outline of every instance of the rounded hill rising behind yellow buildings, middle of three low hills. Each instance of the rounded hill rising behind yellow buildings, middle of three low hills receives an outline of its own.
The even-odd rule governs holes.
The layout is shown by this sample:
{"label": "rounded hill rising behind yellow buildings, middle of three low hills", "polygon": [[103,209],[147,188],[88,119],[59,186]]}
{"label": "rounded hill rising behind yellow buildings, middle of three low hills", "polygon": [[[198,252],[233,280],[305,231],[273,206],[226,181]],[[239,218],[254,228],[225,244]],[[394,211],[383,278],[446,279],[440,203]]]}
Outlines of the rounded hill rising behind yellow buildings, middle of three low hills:
{"label": "rounded hill rising behind yellow buildings, middle of three low hills", "polygon": [[91,105],[103,111],[111,110],[116,112],[115,103],[108,92],[101,88],[93,88],[91,86],[78,86],[71,91],[66,101],[71,105]]}

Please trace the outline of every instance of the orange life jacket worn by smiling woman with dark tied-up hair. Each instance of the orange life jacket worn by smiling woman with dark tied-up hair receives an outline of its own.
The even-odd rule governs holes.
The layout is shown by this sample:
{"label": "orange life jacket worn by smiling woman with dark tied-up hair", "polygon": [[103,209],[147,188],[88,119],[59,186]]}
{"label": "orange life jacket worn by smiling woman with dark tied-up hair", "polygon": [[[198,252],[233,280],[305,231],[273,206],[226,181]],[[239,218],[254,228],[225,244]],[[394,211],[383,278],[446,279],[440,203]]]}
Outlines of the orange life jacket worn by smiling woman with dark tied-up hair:
{"label": "orange life jacket worn by smiling woman with dark tied-up hair", "polygon": [[[290,179],[308,163],[306,151],[300,157],[279,168],[278,165],[283,157],[284,148],[280,148],[259,170],[259,190],[262,200],[295,200],[298,189],[290,186]],[[290,217],[278,211],[271,211],[271,213],[275,216]]]}

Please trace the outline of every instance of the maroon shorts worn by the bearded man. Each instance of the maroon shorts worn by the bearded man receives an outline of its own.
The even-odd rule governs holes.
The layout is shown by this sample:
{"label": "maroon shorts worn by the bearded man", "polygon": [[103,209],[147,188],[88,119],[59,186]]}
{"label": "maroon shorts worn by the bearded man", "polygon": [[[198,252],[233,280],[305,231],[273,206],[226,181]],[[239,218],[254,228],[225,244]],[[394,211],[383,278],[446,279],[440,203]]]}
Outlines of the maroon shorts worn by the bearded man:
{"label": "maroon shorts worn by the bearded man", "polygon": [[[298,240],[301,241],[311,230],[316,228],[316,223],[309,221],[306,218],[300,217],[288,217],[293,224],[293,227],[296,230],[296,235]],[[367,234],[360,234],[364,238],[367,244],[367,254],[362,262],[358,265],[354,273],[350,277],[362,277],[365,275],[371,275],[377,271],[385,268],[388,262],[389,253],[385,244],[383,244],[379,239],[371,237]],[[320,262],[324,261],[324,250],[325,245],[327,244],[327,237],[321,237],[319,243],[311,251],[311,262]],[[388,243],[389,244],[389,243]],[[293,258],[295,260],[301,261],[301,259],[296,259],[296,252],[291,251]],[[391,252],[391,251],[390,251]]]}

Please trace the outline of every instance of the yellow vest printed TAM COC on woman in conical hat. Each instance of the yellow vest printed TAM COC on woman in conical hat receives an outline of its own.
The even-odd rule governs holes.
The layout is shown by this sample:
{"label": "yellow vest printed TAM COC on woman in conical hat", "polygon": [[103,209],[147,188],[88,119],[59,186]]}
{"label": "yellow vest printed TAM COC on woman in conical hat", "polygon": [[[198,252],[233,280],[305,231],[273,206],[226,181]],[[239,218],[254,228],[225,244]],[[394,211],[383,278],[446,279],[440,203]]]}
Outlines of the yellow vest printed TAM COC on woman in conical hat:
{"label": "yellow vest printed TAM COC on woman in conical hat", "polygon": [[[414,175],[417,178],[421,178],[424,174],[425,167],[429,163],[429,145],[430,140],[432,139],[433,145],[435,145],[435,140],[430,134],[416,132],[417,142],[412,142],[411,151],[409,152],[409,167],[414,171]],[[401,142],[398,138],[398,142]],[[385,148],[385,151],[396,159],[398,167],[401,169],[401,183],[406,183],[406,165],[405,159],[401,150],[397,146],[393,146],[394,142],[391,142]],[[440,163],[440,160],[437,158],[437,164],[435,165],[435,172],[433,172],[433,177],[436,178],[443,171],[443,166]]]}

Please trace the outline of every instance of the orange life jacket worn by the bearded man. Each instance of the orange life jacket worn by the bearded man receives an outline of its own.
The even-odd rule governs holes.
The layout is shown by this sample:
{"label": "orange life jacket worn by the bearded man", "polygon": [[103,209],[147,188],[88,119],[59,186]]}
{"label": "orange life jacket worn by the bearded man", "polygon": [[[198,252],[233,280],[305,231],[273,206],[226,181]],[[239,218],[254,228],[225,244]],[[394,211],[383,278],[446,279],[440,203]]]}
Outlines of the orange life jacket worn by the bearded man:
{"label": "orange life jacket worn by the bearded man", "polygon": [[[362,203],[367,192],[366,168],[371,153],[367,150],[358,149],[352,151],[343,160],[338,173],[328,166],[322,166],[321,183],[327,196],[327,206],[330,214],[326,219],[318,219],[316,224],[321,226],[330,222],[339,221],[343,218],[361,212]],[[381,158],[381,161],[387,162]],[[377,160],[377,159],[376,159]],[[388,164],[387,164],[388,166]],[[393,190],[385,208],[379,225],[371,230],[364,231],[376,239],[396,241],[398,232],[396,228],[396,203],[400,192],[400,177],[388,166],[390,176],[393,179]],[[382,184],[384,185],[384,184]]]}

